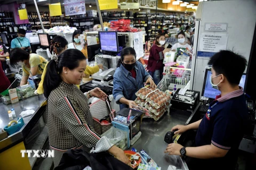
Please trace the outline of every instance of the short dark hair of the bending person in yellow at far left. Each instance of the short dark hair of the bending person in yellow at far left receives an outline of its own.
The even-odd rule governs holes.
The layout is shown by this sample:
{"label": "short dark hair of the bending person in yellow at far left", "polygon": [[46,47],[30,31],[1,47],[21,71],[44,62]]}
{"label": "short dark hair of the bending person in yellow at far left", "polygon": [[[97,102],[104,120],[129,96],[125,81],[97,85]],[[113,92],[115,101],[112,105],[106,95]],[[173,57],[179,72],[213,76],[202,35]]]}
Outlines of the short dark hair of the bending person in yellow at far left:
{"label": "short dark hair of the bending person in yellow at far left", "polygon": [[21,48],[13,48],[10,53],[10,63],[13,67],[17,65],[17,62],[28,60],[29,53],[26,50]]}

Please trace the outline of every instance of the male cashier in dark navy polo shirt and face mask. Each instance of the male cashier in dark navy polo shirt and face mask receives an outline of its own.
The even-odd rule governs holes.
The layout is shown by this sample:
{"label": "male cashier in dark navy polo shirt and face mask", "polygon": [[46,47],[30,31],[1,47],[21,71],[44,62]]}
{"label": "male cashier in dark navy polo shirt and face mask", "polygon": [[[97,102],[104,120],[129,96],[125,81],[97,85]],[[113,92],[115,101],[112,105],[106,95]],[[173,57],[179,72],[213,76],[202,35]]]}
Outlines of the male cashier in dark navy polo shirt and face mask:
{"label": "male cashier in dark navy polo shirt and face mask", "polygon": [[[227,64],[232,61],[232,64]],[[247,65],[244,57],[228,50],[213,55],[211,84],[221,94],[216,97],[205,116],[187,126],[176,125],[172,130],[183,133],[197,129],[196,147],[184,148],[178,143],[168,145],[170,155],[186,155],[194,159],[189,169],[235,169],[239,143],[246,131],[248,111],[239,81]],[[194,167],[195,166],[195,167]]]}

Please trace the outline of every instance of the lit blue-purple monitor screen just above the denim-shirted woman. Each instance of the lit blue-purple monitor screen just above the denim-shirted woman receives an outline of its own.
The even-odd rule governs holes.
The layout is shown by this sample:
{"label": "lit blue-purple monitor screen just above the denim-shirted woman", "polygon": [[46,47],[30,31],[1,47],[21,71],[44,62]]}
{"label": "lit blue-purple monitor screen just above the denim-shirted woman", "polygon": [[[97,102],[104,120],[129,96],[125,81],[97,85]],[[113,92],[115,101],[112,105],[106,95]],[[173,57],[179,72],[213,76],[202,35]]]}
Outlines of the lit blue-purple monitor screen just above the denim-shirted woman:
{"label": "lit blue-purple monitor screen just above the denim-shirted woman", "polygon": [[100,47],[105,52],[118,52],[117,32],[100,31]]}

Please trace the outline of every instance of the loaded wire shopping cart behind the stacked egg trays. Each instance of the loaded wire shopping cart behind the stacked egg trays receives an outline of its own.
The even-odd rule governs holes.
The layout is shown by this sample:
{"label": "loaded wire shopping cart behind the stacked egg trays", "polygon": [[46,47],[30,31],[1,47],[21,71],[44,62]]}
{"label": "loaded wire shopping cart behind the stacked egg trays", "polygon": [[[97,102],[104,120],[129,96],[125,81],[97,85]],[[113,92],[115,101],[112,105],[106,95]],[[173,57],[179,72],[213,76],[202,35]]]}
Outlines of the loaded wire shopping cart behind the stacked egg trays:
{"label": "loaded wire shopping cart behind the stacked egg trays", "polygon": [[176,88],[189,88],[191,69],[165,66],[163,72],[163,79],[158,83],[157,88],[166,91],[172,91],[174,86]]}

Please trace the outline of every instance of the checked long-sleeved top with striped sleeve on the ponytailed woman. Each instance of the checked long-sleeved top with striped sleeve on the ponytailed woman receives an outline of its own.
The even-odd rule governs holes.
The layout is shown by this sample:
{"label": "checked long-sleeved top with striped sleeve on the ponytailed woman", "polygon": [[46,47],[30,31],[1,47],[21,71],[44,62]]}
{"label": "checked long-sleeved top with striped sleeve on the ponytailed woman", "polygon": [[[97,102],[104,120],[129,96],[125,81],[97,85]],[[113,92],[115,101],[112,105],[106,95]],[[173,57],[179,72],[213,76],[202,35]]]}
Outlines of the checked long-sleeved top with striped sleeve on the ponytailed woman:
{"label": "checked long-sleeved top with striped sleeve on the ponytailed woman", "polygon": [[49,142],[54,149],[54,165],[58,166],[62,154],[68,149],[83,148],[89,152],[106,151],[109,140],[94,132],[93,119],[87,104],[87,95],[74,84],[61,82],[47,101]]}

